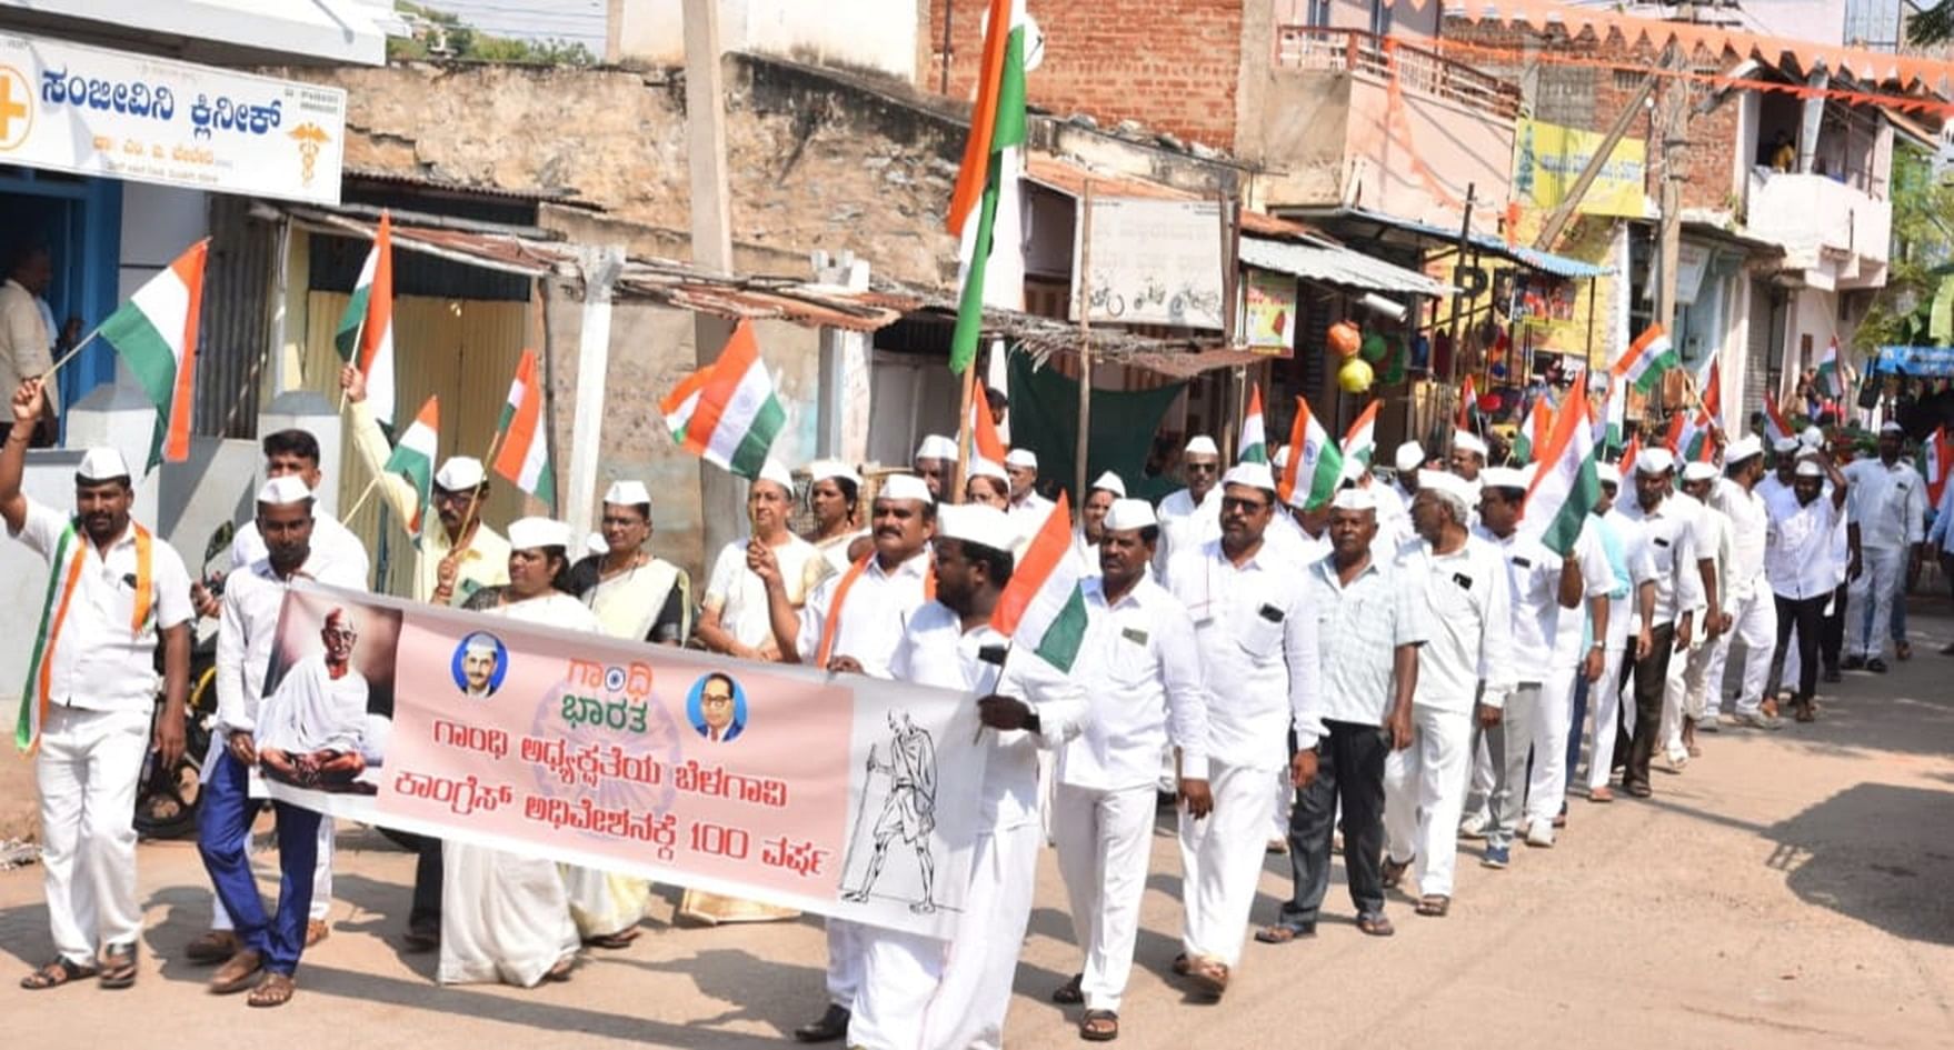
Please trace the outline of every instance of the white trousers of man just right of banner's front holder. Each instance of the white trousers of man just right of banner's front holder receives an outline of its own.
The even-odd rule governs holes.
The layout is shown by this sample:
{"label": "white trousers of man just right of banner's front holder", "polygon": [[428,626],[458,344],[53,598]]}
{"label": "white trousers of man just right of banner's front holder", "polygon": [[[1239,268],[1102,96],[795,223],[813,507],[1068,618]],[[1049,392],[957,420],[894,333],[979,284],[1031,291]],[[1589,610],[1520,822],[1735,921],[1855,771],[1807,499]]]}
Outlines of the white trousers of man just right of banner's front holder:
{"label": "white trousers of man just right of banner's front holder", "polygon": [[1084,956],[1079,988],[1086,1009],[1118,1013],[1133,972],[1153,812],[1153,785],[1122,790],[1059,785],[1059,874],[1073,908],[1073,941]]}

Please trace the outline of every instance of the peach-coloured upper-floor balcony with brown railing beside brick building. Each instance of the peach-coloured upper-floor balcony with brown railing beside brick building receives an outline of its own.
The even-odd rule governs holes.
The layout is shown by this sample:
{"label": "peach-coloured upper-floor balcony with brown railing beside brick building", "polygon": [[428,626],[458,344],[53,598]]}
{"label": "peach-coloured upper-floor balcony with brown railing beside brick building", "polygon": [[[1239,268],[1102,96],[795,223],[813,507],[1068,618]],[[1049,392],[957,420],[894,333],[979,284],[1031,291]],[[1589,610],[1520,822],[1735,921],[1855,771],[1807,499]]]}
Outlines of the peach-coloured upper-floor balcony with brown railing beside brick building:
{"label": "peach-coloured upper-floor balcony with brown railing beside brick building", "polygon": [[1239,109],[1237,150],[1270,172],[1264,207],[1456,226],[1467,187],[1479,209],[1507,201],[1518,88],[1395,37],[1278,25]]}

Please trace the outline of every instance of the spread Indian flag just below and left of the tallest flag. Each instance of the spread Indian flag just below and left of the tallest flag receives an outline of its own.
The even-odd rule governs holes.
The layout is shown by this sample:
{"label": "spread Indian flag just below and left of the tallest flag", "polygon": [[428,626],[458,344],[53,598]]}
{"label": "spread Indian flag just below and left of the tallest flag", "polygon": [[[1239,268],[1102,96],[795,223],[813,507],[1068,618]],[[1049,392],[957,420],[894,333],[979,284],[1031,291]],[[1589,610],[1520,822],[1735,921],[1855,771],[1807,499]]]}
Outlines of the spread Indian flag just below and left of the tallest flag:
{"label": "spread Indian flag just below and left of the tallest flag", "polygon": [[774,396],[774,377],[760,361],[752,322],[739,322],[719,359],[688,375],[658,402],[672,441],[705,463],[746,480],[760,478],[787,414]]}

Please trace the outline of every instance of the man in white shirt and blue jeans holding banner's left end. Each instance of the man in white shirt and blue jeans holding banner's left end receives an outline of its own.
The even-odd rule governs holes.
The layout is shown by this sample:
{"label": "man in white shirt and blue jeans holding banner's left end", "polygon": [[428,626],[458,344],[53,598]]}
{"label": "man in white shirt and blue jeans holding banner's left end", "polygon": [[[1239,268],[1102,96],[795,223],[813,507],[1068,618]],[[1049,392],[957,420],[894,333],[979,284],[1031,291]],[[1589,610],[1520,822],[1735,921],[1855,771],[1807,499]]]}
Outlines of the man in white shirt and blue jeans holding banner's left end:
{"label": "man in white shirt and blue jeans holding banner's left end", "polygon": [[[354,566],[315,556],[313,490],[297,474],[272,478],[258,490],[258,535],[264,539],[264,558],[231,570],[225,578],[225,607],[217,628],[217,718],[211,751],[203,761],[197,851],[234,927],[236,950],[217,968],[211,991],[231,993],[256,986],[250,1005],[276,1007],[293,995],[313,896],[322,892],[320,882],[330,892],[330,868],[324,880],[315,872],[320,857],[330,857],[330,839],[322,839],[317,812],[272,802],[277,812],[277,863],[283,878],[277,911],[266,915],[250,870],[250,826],[264,794],[258,781],[258,736],[277,724],[268,718],[260,726],[264,675],[277,648],[285,591],[295,580],[348,589],[365,589],[365,580],[354,576]],[[285,747],[293,744],[295,740],[287,740]]]}

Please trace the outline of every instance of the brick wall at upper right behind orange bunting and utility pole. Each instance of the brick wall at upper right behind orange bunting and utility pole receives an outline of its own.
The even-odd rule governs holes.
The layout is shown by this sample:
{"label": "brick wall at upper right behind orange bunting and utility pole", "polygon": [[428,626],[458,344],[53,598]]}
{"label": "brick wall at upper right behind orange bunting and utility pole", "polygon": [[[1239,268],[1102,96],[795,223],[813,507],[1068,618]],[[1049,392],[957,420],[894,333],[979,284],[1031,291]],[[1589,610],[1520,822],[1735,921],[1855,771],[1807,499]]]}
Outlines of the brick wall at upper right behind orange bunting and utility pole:
{"label": "brick wall at upper right behind orange bunting and utility pole", "polygon": [[[1501,49],[1503,55],[1452,53],[1452,57],[1477,66],[1483,72],[1522,82],[1522,51],[1532,43],[1546,61],[1540,62],[1538,86],[1532,98],[1534,113],[1551,123],[1583,127],[1589,131],[1608,131],[1624,105],[1639,88],[1637,68],[1657,64],[1661,51],[1647,41],[1630,45],[1620,33],[1606,39],[1583,35],[1567,39],[1565,33],[1540,33],[1528,27],[1493,25],[1446,20],[1444,37],[1473,47]],[[1510,55],[1505,55],[1510,53]],[[1569,64],[1573,62],[1594,62]],[[1690,68],[1698,72],[1721,72],[1735,66],[1739,57],[1725,51],[1712,55],[1698,49],[1690,59]],[[1616,70],[1612,66],[1630,66]],[[1692,109],[1688,121],[1688,146],[1680,150],[1678,176],[1682,178],[1682,207],[1729,211],[1731,162],[1737,142],[1737,100],[1731,98],[1710,113],[1696,115],[1694,105],[1706,98],[1708,86],[1682,82],[1686,107]],[[1663,92],[1657,90],[1657,113],[1661,113]],[[1628,131],[1634,139],[1649,139],[1649,121],[1637,117]],[[1661,187],[1663,154],[1661,142],[1649,142],[1649,197]]]}

